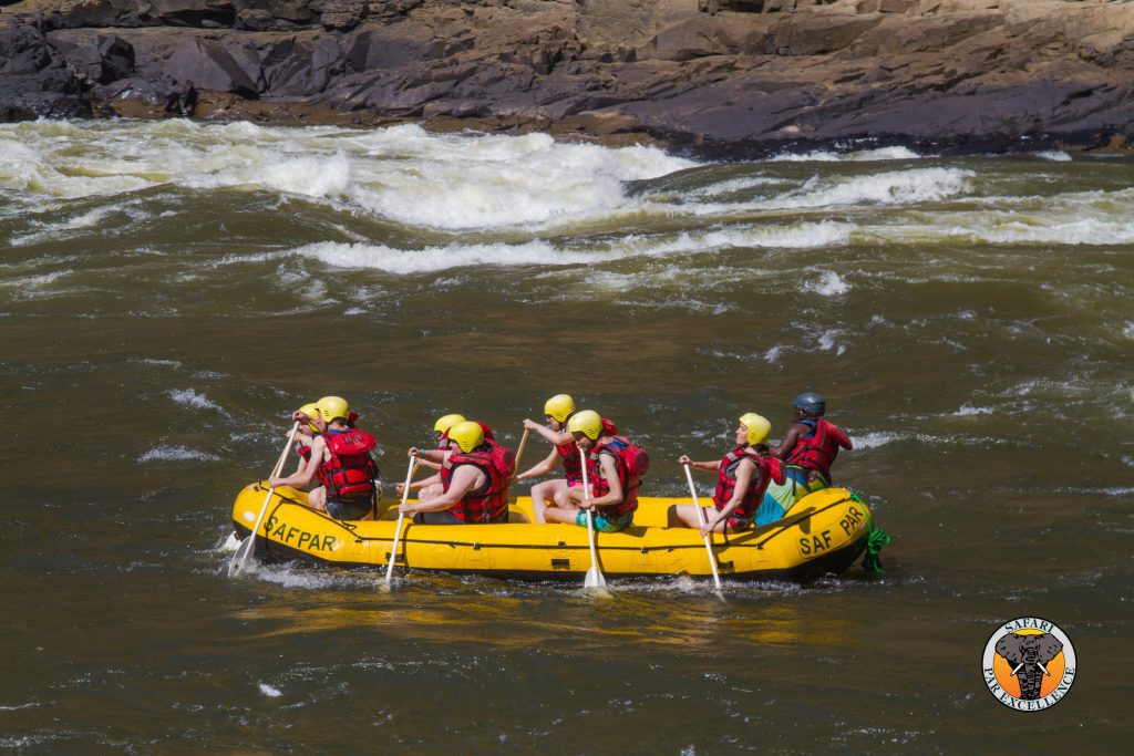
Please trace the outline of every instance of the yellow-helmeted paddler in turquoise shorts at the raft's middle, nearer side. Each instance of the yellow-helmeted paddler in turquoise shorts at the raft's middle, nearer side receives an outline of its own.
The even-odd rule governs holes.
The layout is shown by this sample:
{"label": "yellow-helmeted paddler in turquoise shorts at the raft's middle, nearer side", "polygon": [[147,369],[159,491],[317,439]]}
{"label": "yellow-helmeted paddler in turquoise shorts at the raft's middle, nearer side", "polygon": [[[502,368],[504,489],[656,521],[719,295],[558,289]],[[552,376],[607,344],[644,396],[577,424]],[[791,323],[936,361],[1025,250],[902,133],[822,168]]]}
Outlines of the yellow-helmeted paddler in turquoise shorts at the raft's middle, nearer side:
{"label": "yellow-helmeted paddler in turquoise shorts at the raft's middle, nearer side", "polygon": [[577,485],[568,490],[565,506],[536,509],[536,521],[574,523],[586,527],[586,510],[594,515],[594,527],[617,533],[634,521],[642,476],[650,467],[645,449],[610,431],[612,424],[590,409],[576,413],[567,423],[576,445],[586,455],[592,491]]}

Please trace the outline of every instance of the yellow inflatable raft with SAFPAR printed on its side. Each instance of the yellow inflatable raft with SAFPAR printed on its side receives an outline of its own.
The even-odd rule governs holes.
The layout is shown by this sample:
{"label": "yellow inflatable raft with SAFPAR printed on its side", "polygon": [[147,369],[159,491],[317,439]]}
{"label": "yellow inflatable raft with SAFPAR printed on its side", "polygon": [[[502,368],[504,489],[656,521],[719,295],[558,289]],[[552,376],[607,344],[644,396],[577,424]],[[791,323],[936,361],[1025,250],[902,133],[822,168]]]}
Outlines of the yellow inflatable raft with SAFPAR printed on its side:
{"label": "yellow inflatable raft with SAFPAR printed on its side", "polygon": [[[232,524],[238,537],[252,530],[268,489],[248,485],[236,498]],[[256,555],[264,561],[314,561],[339,567],[386,567],[393,545],[397,507],[386,502],[378,520],[344,521],[303,503],[305,494],[278,489],[256,534]],[[700,533],[666,527],[670,504],[688,499],[638,500],[634,525],[620,533],[596,533],[599,566],[608,579],[710,576]],[[500,525],[414,525],[406,518],[398,540],[396,567],[535,580],[582,583],[591,568],[586,528],[539,525],[524,496],[509,507]],[[846,570],[866,547],[870,510],[846,489],[827,489],[801,499],[771,525],[730,535],[713,534],[721,577],[733,580],[806,583]]]}

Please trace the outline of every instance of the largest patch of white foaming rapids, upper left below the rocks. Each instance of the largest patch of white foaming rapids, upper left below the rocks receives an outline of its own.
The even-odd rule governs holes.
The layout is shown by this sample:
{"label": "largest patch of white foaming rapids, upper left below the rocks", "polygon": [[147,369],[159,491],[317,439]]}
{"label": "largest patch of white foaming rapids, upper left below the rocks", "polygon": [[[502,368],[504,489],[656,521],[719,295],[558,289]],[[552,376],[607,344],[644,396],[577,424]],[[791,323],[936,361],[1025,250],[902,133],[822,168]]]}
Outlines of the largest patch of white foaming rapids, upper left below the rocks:
{"label": "largest patch of white foaming rapids, upper left below the rocks", "polygon": [[81,156],[50,131],[0,127],[0,188],[74,198],[160,184],[245,187],[449,230],[602,218],[637,202],[624,181],[696,164],[654,147],[561,144],[544,134],[435,135],[416,126],[92,125],[81,130]]}

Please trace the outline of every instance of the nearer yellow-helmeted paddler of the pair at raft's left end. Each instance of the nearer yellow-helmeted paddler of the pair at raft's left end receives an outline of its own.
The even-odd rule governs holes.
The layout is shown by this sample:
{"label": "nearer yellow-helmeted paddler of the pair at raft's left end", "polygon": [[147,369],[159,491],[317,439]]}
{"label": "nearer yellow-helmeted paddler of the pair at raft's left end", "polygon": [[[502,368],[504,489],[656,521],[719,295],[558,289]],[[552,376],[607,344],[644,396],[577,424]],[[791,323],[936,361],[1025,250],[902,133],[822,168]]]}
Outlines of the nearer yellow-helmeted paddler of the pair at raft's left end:
{"label": "nearer yellow-helmeted paddler of the pair at raft's left end", "polygon": [[311,440],[307,465],[288,477],[271,478],[269,485],[305,486],[318,477],[321,485],[307,494],[312,509],[340,520],[367,519],[378,504],[378,465],[373,456],[378,441],[350,426],[357,416],[345,399],[323,397],[318,406],[318,425],[323,430]]}

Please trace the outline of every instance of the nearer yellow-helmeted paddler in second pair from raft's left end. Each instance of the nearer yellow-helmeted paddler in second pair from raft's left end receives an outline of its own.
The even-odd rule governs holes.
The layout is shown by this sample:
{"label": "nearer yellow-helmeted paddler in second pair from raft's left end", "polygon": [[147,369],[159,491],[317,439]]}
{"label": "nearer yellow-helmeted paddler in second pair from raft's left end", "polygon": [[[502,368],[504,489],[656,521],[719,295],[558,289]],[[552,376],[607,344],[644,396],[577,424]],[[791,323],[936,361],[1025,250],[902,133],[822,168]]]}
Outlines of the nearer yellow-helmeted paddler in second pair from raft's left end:
{"label": "nearer yellow-helmeted paddler in second pair from raft's left end", "polygon": [[[508,481],[516,472],[516,456],[489,441],[479,423],[454,425],[448,440],[451,449],[433,476],[439,478],[441,493],[406,502],[399,511],[425,525],[507,523]],[[426,482],[434,483],[432,478]]]}

